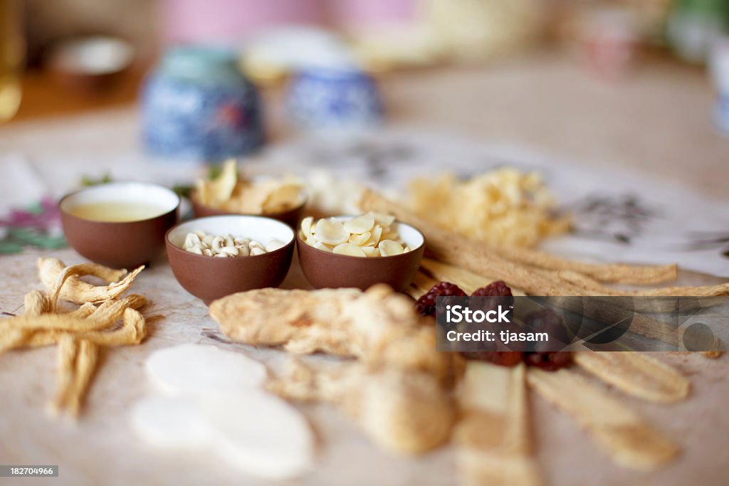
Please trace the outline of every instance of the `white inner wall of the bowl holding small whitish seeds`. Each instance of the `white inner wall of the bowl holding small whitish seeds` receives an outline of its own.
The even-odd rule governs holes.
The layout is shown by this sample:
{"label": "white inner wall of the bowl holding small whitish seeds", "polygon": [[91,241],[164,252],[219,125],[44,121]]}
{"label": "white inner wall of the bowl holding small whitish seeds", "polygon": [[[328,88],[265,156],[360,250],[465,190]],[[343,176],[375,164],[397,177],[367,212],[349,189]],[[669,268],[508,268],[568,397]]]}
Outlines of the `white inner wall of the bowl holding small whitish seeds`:
{"label": "white inner wall of the bowl holding small whitish seeds", "polygon": [[276,219],[260,216],[209,216],[191,219],[174,227],[168,235],[170,243],[182,248],[187,233],[200,230],[208,235],[233,235],[234,238],[252,238],[265,243],[271,238],[283,241],[286,245],[294,240],[294,230]]}

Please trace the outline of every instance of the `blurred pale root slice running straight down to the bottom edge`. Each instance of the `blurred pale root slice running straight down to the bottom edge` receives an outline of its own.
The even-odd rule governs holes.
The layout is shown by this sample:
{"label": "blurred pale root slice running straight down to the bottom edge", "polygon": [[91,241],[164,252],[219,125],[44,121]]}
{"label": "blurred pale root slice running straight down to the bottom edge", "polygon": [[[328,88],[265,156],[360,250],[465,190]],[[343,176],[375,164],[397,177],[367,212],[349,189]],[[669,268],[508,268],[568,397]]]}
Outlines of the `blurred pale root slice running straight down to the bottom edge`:
{"label": "blurred pale root slice running straight down to the bottom edge", "polygon": [[[469,362],[454,432],[464,485],[541,485],[531,455],[526,368]],[[488,386],[484,384],[488,383]]]}

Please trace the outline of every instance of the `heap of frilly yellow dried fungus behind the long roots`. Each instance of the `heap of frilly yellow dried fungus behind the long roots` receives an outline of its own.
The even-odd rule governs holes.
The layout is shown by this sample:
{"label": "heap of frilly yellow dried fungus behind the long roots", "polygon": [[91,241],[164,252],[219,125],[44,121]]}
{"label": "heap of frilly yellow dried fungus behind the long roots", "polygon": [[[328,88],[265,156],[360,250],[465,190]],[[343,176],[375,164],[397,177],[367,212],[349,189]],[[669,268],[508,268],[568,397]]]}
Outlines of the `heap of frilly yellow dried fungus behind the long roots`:
{"label": "heap of frilly yellow dried fungus behind the long roots", "polygon": [[531,247],[569,230],[554,216],[549,189],[536,172],[502,168],[459,181],[451,173],[410,182],[408,205],[446,230],[495,246]]}

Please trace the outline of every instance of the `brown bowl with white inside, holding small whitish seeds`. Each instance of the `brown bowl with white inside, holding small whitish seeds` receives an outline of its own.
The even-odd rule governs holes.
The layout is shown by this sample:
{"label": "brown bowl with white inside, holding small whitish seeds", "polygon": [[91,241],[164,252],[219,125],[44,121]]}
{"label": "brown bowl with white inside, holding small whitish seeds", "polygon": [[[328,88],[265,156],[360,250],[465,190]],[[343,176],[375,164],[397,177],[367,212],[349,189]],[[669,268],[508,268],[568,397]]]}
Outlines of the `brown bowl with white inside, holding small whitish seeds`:
{"label": "brown bowl with white inside, holding small whitish seeds", "polygon": [[[282,248],[256,256],[217,258],[184,251],[182,245],[187,233],[202,230],[208,235],[230,233],[252,238],[265,244],[271,238],[286,243]],[[252,289],[278,287],[289,273],[294,255],[294,231],[276,219],[262,216],[210,216],[191,219],[167,232],[167,256],[172,273],[190,294],[206,304]]]}

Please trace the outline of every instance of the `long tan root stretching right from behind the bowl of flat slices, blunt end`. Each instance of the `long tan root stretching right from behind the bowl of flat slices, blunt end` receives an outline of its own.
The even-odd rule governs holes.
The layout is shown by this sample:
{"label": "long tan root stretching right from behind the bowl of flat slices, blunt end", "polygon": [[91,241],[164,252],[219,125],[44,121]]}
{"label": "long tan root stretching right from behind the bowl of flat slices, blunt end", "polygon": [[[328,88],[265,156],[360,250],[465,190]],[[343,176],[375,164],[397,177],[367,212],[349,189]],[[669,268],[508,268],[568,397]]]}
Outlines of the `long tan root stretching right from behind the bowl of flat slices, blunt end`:
{"label": "long tan root stretching right from behind the bowl of flat slices, blunt end", "polygon": [[[461,264],[461,266],[466,266],[484,275],[499,275],[500,278],[507,281],[515,279],[507,278],[504,270],[515,272],[514,276],[517,278],[513,283],[527,291],[529,289],[519,282],[521,279],[518,278],[519,273],[515,271],[518,270],[515,265],[544,270],[570,270],[606,283],[660,283],[674,280],[677,277],[676,265],[639,267],[625,264],[589,264],[561,259],[558,256],[525,248],[491,248],[484,243],[464,241],[459,235],[426,222],[403,205],[388,200],[372,190],[363,192],[359,206],[363,211],[393,214],[400,221],[418,227],[425,235],[428,248],[445,262]],[[462,242],[460,245],[462,248],[453,248],[453,244],[456,242]],[[468,260],[474,261],[475,265],[471,267],[462,264]],[[510,264],[511,268],[509,268]]]}

